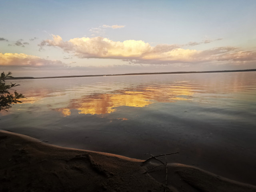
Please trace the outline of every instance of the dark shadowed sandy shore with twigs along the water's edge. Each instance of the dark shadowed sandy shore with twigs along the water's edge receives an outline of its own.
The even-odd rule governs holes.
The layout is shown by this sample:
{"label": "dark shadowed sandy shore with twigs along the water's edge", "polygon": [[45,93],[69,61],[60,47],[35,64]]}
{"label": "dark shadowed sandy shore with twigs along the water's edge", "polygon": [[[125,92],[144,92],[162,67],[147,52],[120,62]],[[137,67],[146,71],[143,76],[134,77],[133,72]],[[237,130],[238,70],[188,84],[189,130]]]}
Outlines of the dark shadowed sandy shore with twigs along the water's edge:
{"label": "dark shadowed sandy shore with twigs along the water's edge", "polygon": [[62,148],[6,131],[0,152],[0,191],[256,192],[193,166]]}

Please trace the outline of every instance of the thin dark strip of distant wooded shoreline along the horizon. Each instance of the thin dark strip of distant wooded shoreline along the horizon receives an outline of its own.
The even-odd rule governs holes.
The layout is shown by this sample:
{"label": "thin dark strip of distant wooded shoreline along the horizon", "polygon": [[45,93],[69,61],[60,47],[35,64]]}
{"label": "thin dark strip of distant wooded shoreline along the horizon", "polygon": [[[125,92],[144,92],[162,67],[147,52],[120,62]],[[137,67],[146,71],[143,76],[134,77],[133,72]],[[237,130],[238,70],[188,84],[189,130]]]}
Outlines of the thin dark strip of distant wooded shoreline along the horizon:
{"label": "thin dark strip of distant wooded shoreline along the horizon", "polygon": [[107,75],[74,75],[74,76],[55,76],[55,77],[14,77],[6,80],[15,79],[50,79],[50,78],[74,78],[74,77],[101,77],[101,76],[127,76],[127,75],[158,75],[158,74],[189,74],[189,73],[224,73],[224,72],[248,72],[256,69],[246,70],[223,70],[223,71],[181,71],[181,72],[158,72],[158,73],[126,73],[126,74],[107,74]]}

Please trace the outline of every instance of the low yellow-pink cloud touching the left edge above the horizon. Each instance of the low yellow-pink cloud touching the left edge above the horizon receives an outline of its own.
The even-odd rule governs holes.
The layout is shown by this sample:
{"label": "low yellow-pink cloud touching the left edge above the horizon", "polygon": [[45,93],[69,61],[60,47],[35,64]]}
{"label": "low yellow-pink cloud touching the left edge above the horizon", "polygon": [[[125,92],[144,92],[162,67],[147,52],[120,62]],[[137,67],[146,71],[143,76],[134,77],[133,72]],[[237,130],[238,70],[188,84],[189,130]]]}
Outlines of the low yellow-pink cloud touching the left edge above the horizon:
{"label": "low yellow-pink cloud touching the left edge above the horizon", "polygon": [[58,60],[46,60],[33,55],[18,53],[0,53],[0,66],[17,66],[17,67],[60,67],[66,66]]}

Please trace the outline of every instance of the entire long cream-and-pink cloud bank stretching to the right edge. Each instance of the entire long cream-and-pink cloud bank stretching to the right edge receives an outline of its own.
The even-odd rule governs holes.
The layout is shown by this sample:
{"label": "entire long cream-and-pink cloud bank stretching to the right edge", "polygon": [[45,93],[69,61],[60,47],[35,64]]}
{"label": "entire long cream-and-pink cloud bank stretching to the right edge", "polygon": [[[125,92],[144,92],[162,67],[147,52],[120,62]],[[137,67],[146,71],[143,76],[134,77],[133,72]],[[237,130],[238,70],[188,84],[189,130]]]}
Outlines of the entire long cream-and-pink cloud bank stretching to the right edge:
{"label": "entire long cream-and-pink cloud bank stretching to the right edge", "polygon": [[[196,42],[190,42],[195,44]],[[202,43],[207,43],[204,41]],[[112,58],[129,60],[142,64],[196,63],[211,61],[256,60],[256,52],[246,52],[235,47],[219,47],[209,50],[184,49],[177,44],[151,46],[142,40],[115,42],[103,37],[83,37],[63,41],[52,35],[39,46],[60,47],[65,52],[73,52],[78,58]]]}

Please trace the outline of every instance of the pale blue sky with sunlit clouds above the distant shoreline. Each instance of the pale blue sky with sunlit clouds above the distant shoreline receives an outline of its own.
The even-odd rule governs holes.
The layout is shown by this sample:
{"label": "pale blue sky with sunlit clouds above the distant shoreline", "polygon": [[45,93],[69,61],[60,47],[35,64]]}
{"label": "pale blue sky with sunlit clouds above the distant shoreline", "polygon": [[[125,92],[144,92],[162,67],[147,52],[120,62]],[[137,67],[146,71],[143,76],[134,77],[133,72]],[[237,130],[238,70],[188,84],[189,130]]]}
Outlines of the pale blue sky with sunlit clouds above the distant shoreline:
{"label": "pale blue sky with sunlit clouds above the distant shoreline", "polygon": [[0,71],[254,69],[255,10],[255,0],[0,0]]}

